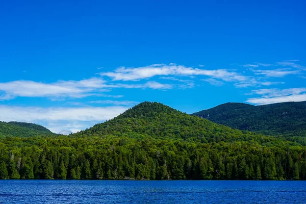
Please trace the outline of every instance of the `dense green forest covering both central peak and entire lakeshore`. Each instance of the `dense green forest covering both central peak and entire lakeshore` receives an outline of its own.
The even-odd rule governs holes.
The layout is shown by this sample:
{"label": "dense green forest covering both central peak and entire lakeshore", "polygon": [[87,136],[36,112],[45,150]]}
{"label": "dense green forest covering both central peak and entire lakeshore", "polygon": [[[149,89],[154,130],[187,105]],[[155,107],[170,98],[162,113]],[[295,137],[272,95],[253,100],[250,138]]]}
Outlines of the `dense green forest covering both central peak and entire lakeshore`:
{"label": "dense green forest covering both central peak and entire lakeshore", "polygon": [[69,136],[0,139],[0,179],[306,180],[306,147],[145,102]]}

